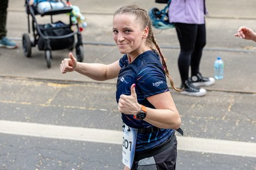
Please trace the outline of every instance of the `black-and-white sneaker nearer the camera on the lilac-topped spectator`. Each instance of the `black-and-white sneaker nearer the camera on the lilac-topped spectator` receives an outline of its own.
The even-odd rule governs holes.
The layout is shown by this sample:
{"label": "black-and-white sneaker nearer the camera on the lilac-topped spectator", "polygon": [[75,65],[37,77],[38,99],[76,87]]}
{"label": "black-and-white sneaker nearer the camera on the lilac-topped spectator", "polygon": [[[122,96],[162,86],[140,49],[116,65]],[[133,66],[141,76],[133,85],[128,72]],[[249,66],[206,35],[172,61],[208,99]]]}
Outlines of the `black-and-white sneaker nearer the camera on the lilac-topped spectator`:
{"label": "black-and-white sneaker nearer the camera on the lilac-topped spectator", "polygon": [[206,95],[206,90],[200,87],[196,87],[192,84],[190,79],[185,80],[184,83],[181,84],[180,89],[183,89],[180,93],[182,95],[188,96],[204,96]]}

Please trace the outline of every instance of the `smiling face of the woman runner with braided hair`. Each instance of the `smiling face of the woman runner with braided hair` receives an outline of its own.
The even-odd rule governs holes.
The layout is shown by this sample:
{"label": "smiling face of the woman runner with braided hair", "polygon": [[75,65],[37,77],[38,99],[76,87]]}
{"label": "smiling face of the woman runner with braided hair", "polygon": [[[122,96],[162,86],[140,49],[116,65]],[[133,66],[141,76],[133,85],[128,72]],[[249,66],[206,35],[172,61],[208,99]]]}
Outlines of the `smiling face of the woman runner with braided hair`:
{"label": "smiling face of the woman runner with braided hair", "polygon": [[140,53],[145,47],[145,29],[135,15],[117,14],[113,18],[113,39],[121,54]]}

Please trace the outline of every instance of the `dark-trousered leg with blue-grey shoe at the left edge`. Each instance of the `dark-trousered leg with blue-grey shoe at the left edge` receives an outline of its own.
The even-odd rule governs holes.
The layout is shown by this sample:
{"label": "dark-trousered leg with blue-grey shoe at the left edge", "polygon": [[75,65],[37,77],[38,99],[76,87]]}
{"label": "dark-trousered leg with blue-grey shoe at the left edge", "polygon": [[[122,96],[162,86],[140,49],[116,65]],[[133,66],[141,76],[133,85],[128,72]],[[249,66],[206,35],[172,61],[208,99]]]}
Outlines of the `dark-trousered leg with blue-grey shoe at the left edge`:
{"label": "dark-trousered leg with blue-grey shoe at the left edge", "polygon": [[8,0],[0,0],[0,47],[14,49],[17,48],[16,43],[6,37],[7,8]]}

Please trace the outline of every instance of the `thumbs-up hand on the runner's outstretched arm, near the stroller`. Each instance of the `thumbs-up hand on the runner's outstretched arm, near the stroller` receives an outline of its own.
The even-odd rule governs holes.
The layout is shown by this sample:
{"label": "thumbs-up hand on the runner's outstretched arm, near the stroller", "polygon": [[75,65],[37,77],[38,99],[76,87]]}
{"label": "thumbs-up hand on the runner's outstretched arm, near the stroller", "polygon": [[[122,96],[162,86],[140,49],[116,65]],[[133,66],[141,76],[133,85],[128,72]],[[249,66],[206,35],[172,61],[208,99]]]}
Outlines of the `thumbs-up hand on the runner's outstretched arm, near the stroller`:
{"label": "thumbs-up hand on the runner's outstretched arm, near the stroller", "polygon": [[62,64],[60,64],[60,71],[64,74],[66,72],[72,72],[75,70],[77,65],[77,61],[72,53],[69,53],[69,59],[62,60]]}

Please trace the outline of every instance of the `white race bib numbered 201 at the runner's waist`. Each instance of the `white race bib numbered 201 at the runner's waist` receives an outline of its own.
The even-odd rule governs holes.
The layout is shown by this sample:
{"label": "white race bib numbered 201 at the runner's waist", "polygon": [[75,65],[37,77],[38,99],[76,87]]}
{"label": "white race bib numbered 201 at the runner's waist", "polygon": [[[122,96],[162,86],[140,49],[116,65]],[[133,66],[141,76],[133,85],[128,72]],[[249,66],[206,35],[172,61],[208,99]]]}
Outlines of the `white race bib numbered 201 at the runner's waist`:
{"label": "white race bib numbered 201 at the runner's waist", "polygon": [[131,169],[135,155],[135,146],[137,139],[137,129],[127,127],[123,128],[123,163]]}

